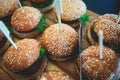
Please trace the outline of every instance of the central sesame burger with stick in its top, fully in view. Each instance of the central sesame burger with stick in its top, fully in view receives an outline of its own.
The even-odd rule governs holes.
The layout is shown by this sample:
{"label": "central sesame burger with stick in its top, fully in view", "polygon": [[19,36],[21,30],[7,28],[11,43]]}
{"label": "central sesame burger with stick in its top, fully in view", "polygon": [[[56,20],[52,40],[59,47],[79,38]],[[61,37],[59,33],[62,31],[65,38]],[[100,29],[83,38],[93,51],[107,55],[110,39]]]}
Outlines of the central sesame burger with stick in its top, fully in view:
{"label": "central sesame burger with stick in its top, fully in view", "polygon": [[77,46],[77,32],[67,24],[54,24],[48,27],[42,35],[42,44],[48,51],[48,56],[57,61],[65,61],[73,57]]}

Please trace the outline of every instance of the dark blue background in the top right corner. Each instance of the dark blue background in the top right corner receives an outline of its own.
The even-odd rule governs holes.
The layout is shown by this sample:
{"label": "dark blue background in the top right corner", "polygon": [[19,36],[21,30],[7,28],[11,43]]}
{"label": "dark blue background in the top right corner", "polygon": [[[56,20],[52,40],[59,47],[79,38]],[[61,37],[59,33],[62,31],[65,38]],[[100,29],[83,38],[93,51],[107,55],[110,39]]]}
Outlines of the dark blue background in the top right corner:
{"label": "dark blue background in the top right corner", "polygon": [[120,0],[83,0],[87,9],[98,14],[113,13],[120,11]]}

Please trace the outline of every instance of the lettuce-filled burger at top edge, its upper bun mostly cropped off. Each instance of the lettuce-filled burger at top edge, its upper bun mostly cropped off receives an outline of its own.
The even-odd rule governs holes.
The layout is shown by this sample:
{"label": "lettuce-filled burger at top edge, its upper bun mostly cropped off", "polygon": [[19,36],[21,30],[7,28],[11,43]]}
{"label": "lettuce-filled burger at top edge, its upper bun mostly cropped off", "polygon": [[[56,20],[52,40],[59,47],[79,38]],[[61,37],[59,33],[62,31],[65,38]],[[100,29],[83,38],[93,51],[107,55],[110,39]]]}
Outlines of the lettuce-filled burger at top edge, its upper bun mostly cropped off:
{"label": "lettuce-filled burger at top edge, its upper bun mostly cropped off", "polygon": [[55,5],[55,0],[30,0],[31,5],[38,8],[41,12],[51,10]]}

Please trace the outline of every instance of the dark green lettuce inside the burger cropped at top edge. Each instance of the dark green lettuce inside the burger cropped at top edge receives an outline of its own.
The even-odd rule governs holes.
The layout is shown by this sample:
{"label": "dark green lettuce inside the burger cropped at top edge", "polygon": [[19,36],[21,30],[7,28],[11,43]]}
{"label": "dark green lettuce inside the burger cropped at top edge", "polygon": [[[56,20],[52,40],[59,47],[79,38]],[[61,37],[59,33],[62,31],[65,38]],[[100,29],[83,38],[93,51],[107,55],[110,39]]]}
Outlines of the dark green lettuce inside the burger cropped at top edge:
{"label": "dark green lettuce inside the burger cropped at top edge", "polygon": [[42,3],[32,3],[32,6],[35,8],[44,8],[47,7],[49,5],[51,5],[53,3],[54,0],[48,0]]}

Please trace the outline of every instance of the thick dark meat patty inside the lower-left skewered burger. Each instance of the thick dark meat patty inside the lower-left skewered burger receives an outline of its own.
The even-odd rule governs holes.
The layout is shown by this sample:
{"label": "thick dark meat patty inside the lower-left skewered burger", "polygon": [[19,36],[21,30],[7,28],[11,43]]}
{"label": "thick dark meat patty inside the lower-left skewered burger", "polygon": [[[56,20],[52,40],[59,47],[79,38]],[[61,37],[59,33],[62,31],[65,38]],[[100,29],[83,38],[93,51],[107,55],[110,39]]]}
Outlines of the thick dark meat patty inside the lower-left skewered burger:
{"label": "thick dark meat patty inside the lower-left skewered burger", "polygon": [[38,58],[37,61],[31,65],[29,68],[24,69],[22,71],[16,72],[17,74],[22,74],[22,75],[32,75],[35,74],[38,69],[40,68],[41,64],[43,62],[43,58]]}

